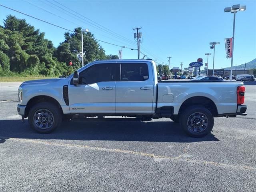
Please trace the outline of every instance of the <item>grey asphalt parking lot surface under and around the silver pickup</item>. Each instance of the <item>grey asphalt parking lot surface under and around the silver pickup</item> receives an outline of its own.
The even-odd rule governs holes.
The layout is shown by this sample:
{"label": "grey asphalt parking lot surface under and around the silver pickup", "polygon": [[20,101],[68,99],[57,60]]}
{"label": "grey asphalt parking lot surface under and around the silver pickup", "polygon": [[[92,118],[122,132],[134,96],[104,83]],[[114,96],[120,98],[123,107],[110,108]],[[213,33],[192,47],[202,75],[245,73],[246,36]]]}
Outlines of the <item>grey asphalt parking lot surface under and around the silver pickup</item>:
{"label": "grey asphalt parking lot surface under and around the silver pickup", "polygon": [[17,114],[20,83],[0,84],[0,191],[256,191],[256,84],[247,116],[215,118],[204,138],[168,118],[66,122],[37,134]]}

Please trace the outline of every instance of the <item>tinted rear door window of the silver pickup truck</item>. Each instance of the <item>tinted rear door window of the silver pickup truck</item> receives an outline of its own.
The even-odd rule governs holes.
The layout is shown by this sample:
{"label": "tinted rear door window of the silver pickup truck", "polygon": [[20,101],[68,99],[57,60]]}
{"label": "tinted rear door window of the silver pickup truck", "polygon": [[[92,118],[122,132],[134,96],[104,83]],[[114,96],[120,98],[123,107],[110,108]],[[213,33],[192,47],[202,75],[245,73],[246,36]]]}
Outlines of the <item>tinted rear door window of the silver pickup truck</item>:
{"label": "tinted rear door window of the silver pickup truck", "polygon": [[148,64],[146,63],[122,63],[121,81],[145,81],[148,80]]}

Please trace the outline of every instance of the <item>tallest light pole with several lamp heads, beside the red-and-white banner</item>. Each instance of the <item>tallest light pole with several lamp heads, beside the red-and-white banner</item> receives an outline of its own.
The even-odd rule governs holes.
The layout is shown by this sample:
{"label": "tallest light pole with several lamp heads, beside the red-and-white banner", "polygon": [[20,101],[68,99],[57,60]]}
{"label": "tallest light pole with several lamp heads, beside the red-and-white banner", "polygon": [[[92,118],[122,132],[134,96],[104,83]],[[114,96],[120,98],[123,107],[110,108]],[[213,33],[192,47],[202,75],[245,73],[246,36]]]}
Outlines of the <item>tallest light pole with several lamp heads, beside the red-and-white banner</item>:
{"label": "tallest light pole with several lamp heads, beside the red-and-white banner", "polygon": [[234,13],[234,19],[233,19],[233,36],[232,36],[232,57],[231,57],[231,68],[230,68],[230,81],[232,81],[232,73],[233,73],[233,56],[234,56],[234,39],[235,39],[235,21],[236,21],[236,12],[238,11],[245,11],[246,6],[240,6],[238,5],[233,5],[232,7],[226,7],[224,9],[224,12],[231,12]]}

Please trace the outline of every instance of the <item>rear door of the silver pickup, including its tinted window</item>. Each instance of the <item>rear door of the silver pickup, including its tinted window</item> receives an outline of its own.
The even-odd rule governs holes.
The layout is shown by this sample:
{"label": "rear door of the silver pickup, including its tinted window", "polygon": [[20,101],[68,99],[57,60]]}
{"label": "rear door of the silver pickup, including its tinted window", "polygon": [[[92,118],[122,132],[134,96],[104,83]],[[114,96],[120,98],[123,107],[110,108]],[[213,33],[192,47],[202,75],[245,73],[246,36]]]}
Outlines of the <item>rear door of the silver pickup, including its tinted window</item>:
{"label": "rear door of the silver pickup, including its tinted window", "polygon": [[116,82],[117,114],[151,114],[154,78],[150,62],[122,62]]}

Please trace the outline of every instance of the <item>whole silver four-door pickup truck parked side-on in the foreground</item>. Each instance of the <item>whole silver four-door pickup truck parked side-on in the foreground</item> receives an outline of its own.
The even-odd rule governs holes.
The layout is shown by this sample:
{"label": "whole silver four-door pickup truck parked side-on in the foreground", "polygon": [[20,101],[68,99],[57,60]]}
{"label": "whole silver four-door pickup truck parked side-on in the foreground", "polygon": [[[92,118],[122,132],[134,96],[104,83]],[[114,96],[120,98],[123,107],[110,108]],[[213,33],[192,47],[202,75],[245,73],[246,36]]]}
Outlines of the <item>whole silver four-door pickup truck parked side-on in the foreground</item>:
{"label": "whole silver four-door pickup truck parked side-on in the foreground", "polygon": [[214,117],[246,115],[242,82],[158,82],[152,60],[98,60],[66,78],[19,87],[18,113],[32,128],[52,132],[62,120],[149,121],[170,118],[190,136],[210,133]]}

